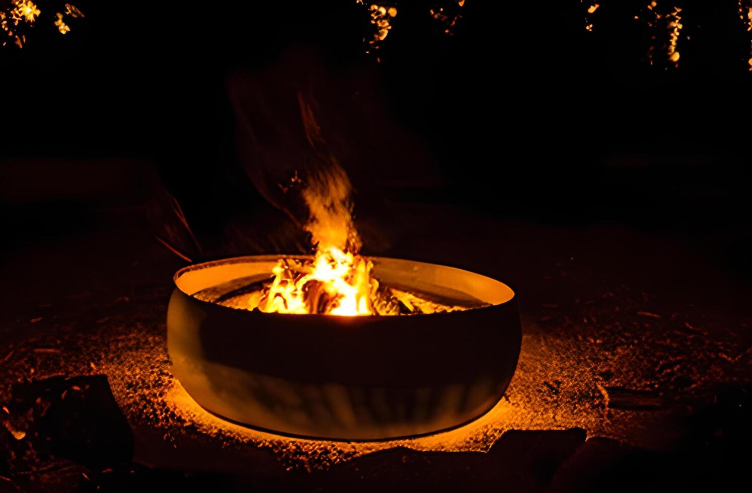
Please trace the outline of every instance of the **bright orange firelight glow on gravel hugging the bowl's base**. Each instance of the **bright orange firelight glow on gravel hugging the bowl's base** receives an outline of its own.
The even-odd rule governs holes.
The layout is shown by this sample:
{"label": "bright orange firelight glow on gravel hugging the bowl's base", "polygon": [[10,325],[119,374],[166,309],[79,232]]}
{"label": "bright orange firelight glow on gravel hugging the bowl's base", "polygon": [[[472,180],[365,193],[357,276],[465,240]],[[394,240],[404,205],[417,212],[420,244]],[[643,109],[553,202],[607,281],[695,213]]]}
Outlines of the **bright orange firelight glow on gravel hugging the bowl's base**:
{"label": "bright orange firelight glow on gravel hugging the bowl's base", "polygon": [[[179,443],[180,436],[203,436],[219,441],[223,447],[250,446],[267,449],[288,470],[328,469],[350,459],[379,450],[405,447],[416,451],[487,452],[508,430],[565,430],[585,428],[590,435],[625,440],[635,422],[630,411],[609,409],[608,390],[600,385],[592,368],[569,361],[579,350],[561,346],[561,341],[545,342],[538,336],[523,337],[523,351],[517,373],[505,397],[481,418],[459,428],[404,440],[344,442],[285,437],[247,428],[221,419],[204,410],[180,383],[171,376],[166,363],[166,348],[161,341],[143,341],[151,346],[147,352],[152,363],[144,365],[144,348],[125,352],[114,361],[102,361],[96,373],[108,374],[113,393],[121,409],[137,430],[156,428],[166,443]],[[563,352],[559,352],[564,350]],[[556,356],[558,354],[559,356]],[[626,353],[621,356],[629,357]],[[584,361],[583,361],[584,362]],[[553,372],[553,373],[552,373]],[[549,374],[558,374],[560,382],[547,382]],[[593,401],[575,404],[582,382],[590,382]],[[548,392],[549,386],[556,393]],[[598,390],[598,389],[602,390]],[[541,389],[544,392],[541,393]],[[604,395],[605,393],[605,395]],[[542,398],[542,401],[541,401]],[[544,410],[541,410],[541,407]],[[651,419],[660,419],[660,412]],[[649,426],[644,423],[642,426]],[[650,445],[650,444],[647,444]],[[174,445],[179,448],[179,445]],[[166,449],[171,449],[172,446]],[[250,450],[249,449],[249,450]],[[137,451],[137,455],[138,455]],[[152,451],[142,451],[151,454]],[[162,452],[159,452],[162,453]],[[147,457],[158,460],[158,457]]]}

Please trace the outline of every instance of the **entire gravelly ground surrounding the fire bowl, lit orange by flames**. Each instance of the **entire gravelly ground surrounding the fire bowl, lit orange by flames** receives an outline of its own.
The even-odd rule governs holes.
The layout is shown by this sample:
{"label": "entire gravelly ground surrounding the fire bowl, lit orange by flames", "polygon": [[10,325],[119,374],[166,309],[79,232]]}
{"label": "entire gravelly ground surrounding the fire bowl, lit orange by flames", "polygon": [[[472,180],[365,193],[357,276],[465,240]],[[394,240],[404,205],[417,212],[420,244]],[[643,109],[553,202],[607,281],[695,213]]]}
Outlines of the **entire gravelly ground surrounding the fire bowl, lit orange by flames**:
{"label": "entire gravelly ground surrounding the fire bowl, lit orange by flames", "polygon": [[[264,478],[299,481],[300,474],[321,484],[329,481],[327,474],[339,475],[357,485],[359,477],[410,476],[409,471],[438,482],[441,473],[425,472],[432,463],[442,464],[441,470],[471,471],[471,480],[487,484],[496,478],[493,474],[508,475],[503,467],[492,468],[496,472],[491,474],[478,465],[483,457],[498,454],[414,455],[405,449],[488,452],[498,442],[494,450],[501,450],[505,461],[535,462],[514,457],[514,440],[520,439],[527,444],[522,446],[525,453],[553,446],[561,455],[550,473],[533,474],[544,478],[533,481],[541,489],[566,483],[565,466],[577,465],[576,450],[596,455],[598,447],[607,455],[624,446],[642,453],[681,450],[694,443],[689,437],[696,431],[696,416],[713,409],[726,389],[734,395],[750,384],[752,317],[748,310],[744,313],[748,292],[724,281],[681,238],[627,228],[565,230],[473,219],[459,227],[467,244],[443,237],[439,225],[429,224],[420,240],[397,241],[390,253],[480,271],[517,290],[524,337],[505,399],[470,425],[414,440],[332,443],[254,431],[211,416],[171,376],[165,309],[171,273],[182,264],[151,241],[129,214],[116,219],[117,228],[18,250],[5,259],[5,279],[12,288],[3,301],[0,327],[0,372],[5,375],[0,402],[8,403],[0,432],[2,443],[14,452],[0,476],[14,487],[44,490],[59,482],[94,481],[108,489],[107,475],[130,467],[98,469],[66,457],[62,470],[67,472],[61,473],[62,466],[49,466],[58,464],[61,452],[33,452],[47,433],[37,429],[43,418],[34,420],[43,416],[34,409],[44,401],[27,398],[32,404],[24,410],[17,394],[38,392],[40,387],[30,383],[44,385],[56,376],[107,377],[132,428],[132,458],[140,467],[223,475],[212,478],[242,476],[253,478],[247,479],[252,485]],[[53,390],[68,389],[55,382]],[[85,395],[87,389],[77,385],[68,392]],[[748,416],[748,407],[744,412]],[[505,435],[509,430],[514,432]],[[717,430],[713,433],[719,436]],[[584,442],[586,438],[595,441]],[[403,448],[394,455],[369,455],[396,447]],[[513,452],[504,452],[508,447]],[[60,477],[50,479],[50,470]],[[514,484],[532,481],[516,480]],[[246,483],[232,482],[238,484]]]}

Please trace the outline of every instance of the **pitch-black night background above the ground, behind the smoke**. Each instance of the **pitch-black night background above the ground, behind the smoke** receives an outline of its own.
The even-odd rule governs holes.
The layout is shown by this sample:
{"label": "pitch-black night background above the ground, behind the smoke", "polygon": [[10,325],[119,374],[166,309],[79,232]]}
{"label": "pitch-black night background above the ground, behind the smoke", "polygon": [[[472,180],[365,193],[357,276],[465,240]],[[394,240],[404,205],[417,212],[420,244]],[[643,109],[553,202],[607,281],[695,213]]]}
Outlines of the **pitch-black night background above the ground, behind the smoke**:
{"label": "pitch-black night background above the ground, behind the smoke", "polygon": [[[362,6],[321,3],[81,2],[86,19],[65,36],[42,17],[23,50],[0,53],[4,220],[20,228],[10,236],[72,228],[92,201],[140,204],[148,192],[123,177],[141,163],[199,229],[217,221],[228,195],[253,193],[232,175],[227,74],[301,45],[329,73],[368,73],[390,125],[421,147],[433,176],[410,186],[432,199],[546,222],[747,227],[749,36],[736,2],[679,2],[678,70],[660,55],[648,65],[655,32],[633,19],[643,2],[602,2],[593,32],[580,2],[468,2],[452,37],[429,4],[402,2],[378,66],[363,53]],[[390,147],[395,160],[405,152]],[[30,171],[28,159],[50,168]],[[197,210],[208,183],[225,190],[202,191]],[[746,276],[750,238],[739,241],[726,253]]]}

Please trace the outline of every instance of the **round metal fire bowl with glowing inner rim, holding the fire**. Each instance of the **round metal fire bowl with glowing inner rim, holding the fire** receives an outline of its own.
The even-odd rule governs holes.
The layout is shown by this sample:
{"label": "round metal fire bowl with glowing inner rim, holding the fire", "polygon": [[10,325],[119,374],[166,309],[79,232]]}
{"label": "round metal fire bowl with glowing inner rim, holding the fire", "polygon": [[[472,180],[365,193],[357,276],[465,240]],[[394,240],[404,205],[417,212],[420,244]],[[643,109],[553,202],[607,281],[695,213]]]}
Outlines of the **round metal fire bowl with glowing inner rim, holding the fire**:
{"label": "round metal fire bowl with glowing inner rim, holding the fire", "polygon": [[374,258],[374,276],[387,286],[491,306],[410,316],[286,315],[192,296],[270,277],[279,258],[207,262],[174,276],[167,314],[173,373],[205,409],[282,434],[384,440],[462,425],[502,398],[521,343],[514,292],[505,284],[443,265]]}

